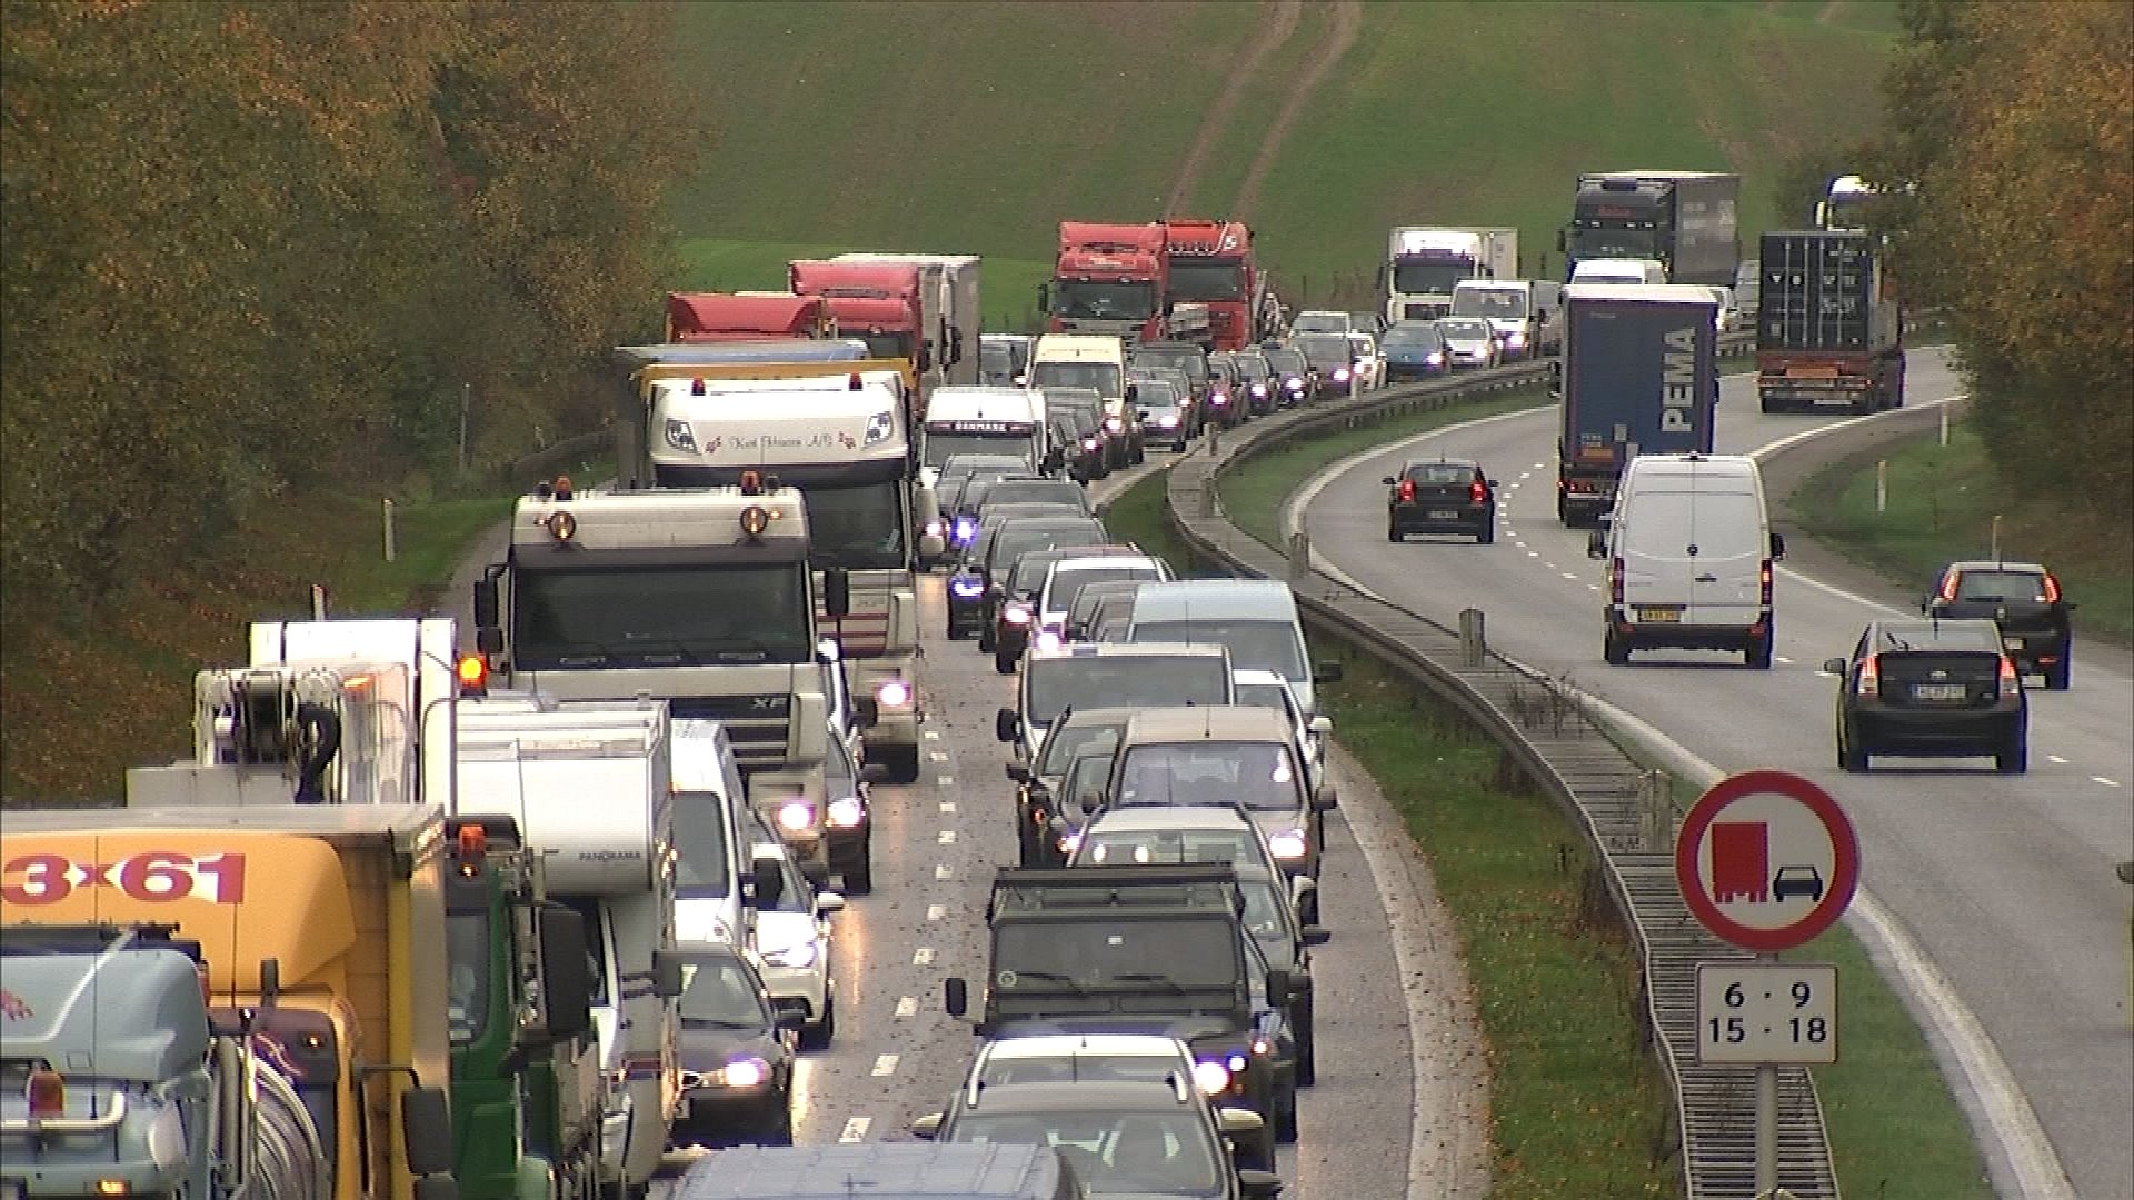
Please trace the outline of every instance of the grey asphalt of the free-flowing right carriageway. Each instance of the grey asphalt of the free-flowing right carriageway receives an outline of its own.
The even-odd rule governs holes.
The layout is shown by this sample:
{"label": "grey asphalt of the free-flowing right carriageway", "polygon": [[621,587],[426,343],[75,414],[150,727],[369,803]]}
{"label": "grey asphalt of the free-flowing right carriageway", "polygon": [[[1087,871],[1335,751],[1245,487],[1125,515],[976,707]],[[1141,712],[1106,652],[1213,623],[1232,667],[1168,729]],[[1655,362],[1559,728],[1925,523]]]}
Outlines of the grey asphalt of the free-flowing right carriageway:
{"label": "grey asphalt of the free-flowing right carriageway", "polygon": [[[1912,354],[1912,408],[1961,386],[1940,354]],[[1765,416],[1752,380],[1729,378],[1718,448],[1756,453],[1844,421]],[[1807,461],[1848,455],[1886,421],[1912,419],[1867,419],[1859,431],[1814,438],[1786,455],[1773,483],[1801,478]],[[1351,459],[1302,506],[1310,547],[1359,585],[1434,619],[1485,611],[1492,649],[1628,709],[1722,771],[1778,767],[1829,788],[1859,826],[1863,888],[1997,1046],[2074,1194],[2134,1196],[2128,888],[2113,878],[2115,863],[2134,858],[2128,653],[2079,643],[2072,690],[2032,692],[2027,775],[1997,775],[1985,758],[1878,758],[1874,773],[1844,775],[1831,732],[1835,681],[1820,664],[1848,653],[1869,617],[1914,611],[1916,591],[1863,579],[1840,555],[1799,544],[1780,568],[1769,673],[1699,651],[1641,651],[1628,666],[1607,666],[1603,570],[1586,557],[1586,532],[1556,519],[1554,438],[1549,408]],[[1502,480],[1494,547],[1464,538],[1387,544],[1381,476],[1404,457],[1440,451],[1470,455]],[[1968,1104],[1976,1110],[1976,1102],[1974,1091]]]}

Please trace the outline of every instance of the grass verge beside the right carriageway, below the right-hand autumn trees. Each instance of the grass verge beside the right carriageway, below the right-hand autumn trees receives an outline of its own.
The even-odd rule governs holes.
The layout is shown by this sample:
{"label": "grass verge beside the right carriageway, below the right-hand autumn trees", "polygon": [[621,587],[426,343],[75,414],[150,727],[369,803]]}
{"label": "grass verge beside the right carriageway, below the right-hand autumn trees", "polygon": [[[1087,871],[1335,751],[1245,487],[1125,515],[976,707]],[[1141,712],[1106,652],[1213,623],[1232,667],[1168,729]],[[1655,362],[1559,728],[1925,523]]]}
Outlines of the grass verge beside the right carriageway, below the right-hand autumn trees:
{"label": "grass verge beside the right carriageway, below the right-hand autumn trees", "polygon": [[1889,455],[1886,510],[1876,510],[1874,461],[1831,463],[1793,506],[1801,525],[1893,581],[1925,587],[1944,562],[2000,551],[2053,568],[2074,611],[2074,632],[2134,641],[2134,547],[2125,525],[2049,508],[2055,498],[2008,487],[1987,465],[1978,436],[1961,421],[1948,446],[1925,438]]}

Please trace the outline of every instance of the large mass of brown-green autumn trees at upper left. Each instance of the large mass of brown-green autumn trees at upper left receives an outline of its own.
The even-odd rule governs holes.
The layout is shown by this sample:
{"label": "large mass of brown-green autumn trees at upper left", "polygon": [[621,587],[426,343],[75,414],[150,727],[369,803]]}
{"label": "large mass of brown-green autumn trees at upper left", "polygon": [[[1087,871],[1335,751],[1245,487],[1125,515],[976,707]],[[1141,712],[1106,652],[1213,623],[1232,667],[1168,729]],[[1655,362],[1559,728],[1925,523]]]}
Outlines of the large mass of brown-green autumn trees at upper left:
{"label": "large mass of brown-green autumn trees at upper left", "polygon": [[706,137],[666,4],[6,0],[0,589],[600,419]]}

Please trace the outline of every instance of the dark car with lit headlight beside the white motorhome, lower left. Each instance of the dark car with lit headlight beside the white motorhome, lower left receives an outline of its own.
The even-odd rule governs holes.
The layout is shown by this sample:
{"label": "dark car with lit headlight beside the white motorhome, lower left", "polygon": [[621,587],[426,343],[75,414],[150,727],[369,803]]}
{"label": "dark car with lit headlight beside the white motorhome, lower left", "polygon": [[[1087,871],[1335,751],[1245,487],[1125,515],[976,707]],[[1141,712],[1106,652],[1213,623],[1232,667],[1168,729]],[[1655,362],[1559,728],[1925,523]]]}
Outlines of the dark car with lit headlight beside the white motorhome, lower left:
{"label": "dark car with lit headlight beside the white motorhome, lower left", "polygon": [[749,959],[723,942],[681,946],[683,1100],[670,1142],[775,1144],[794,1140],[794,1053],[800,1012],[777,1014]]}

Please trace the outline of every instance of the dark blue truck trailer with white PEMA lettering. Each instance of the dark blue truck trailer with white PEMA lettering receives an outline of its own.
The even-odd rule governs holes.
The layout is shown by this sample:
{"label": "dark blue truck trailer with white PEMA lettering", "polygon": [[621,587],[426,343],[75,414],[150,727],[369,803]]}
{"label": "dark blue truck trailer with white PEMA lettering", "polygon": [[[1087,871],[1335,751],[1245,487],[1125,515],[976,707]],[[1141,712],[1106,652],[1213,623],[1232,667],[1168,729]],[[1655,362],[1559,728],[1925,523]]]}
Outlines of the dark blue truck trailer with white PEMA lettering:
{"label": "dark blue truck trailer with white PEMA lettering", "polygon": [[1639,453],[1711,453],[1718,299],[1677,284],[1566,284],[1564,314],[1556,517],[1590,525]]}

